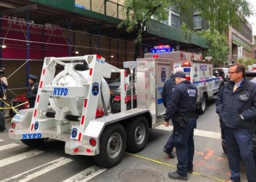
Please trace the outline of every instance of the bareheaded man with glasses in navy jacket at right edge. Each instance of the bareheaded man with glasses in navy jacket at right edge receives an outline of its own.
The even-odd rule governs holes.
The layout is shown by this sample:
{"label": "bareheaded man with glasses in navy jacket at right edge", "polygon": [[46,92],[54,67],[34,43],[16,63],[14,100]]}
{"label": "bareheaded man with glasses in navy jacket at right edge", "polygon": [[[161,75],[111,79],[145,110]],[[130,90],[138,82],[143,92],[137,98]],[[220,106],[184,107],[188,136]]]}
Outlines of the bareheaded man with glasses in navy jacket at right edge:
{"label": "bareheaded man with glasses in navy jacket at right edge", "polygon": [[230,81],[217,96],[216,111],[224,130],[230,181],[240,181],[240,156],[244,160],[248,181],[256,181],[252,135],[256,116],[256,84],[246,80],[245,68],[233,64],[228,72]]}

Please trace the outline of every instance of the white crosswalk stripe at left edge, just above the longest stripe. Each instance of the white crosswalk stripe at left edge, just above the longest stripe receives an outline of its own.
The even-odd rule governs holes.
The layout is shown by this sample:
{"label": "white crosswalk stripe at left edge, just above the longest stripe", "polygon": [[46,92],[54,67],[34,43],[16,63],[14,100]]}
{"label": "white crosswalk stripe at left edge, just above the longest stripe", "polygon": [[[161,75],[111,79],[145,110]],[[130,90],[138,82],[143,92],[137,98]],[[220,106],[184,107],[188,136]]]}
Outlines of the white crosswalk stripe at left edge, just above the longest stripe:
{"label": "white crosswalk stripe at left edge, just above the longest stripe", "polygon": [[0,167],[4,167],[6,165],[10,165],[14,162],[18,162],[20,160],[29,158],[29,157],[33,157],[36,156],[38,154],[42,154],[44,151],[39,151],[39,150],[31,150],[31,151],[27,151],[24,152],[22,154],[18,154],[16,156],[12,156],[12,157],[8,157],[6,159],[1,159],[0,160]]}

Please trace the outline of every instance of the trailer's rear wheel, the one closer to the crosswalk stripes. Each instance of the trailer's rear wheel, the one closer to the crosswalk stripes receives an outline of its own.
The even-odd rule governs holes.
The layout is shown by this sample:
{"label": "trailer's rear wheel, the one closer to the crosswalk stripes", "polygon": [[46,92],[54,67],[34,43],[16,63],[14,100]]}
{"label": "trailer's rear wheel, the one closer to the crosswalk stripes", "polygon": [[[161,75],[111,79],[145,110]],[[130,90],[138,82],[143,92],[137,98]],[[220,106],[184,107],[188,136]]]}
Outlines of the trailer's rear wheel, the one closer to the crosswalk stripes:
{"label": "trailer's rear wheel, the one closer to the crosswalk stripes", "polygon": [[99,139],[99,154],[94,157],[97,165],[110,168],[117,165],[127,147],[127,134],[121,124],[106,127]]}

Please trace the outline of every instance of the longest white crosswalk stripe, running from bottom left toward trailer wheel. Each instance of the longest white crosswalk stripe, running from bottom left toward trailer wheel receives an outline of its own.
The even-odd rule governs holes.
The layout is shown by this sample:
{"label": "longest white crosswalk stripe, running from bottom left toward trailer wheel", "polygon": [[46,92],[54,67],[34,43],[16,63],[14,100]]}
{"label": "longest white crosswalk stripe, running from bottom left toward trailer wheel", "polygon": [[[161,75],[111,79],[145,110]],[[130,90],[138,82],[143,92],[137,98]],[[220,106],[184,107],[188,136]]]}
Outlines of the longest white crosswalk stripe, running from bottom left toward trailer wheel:
{"label": "longest white crosswalk stripe, running from bottom left toward trailer wheel", "polygon": [[[60,167],[61,165],[65,165],[65,164],[67,164],[69,162],[72,162],[72,159],[61,157],[59,159],[53,160],[51,162],[48,162],[48,163],[46,163],[44,165],[40,165],[38,167],[35,167],[35,168],[31,169],[31,170],[27,170],[24,173],[20,173],[18,175],[12,176],[11,178],[4,179],[4,181],[2,181],[2,182],[13,181],[13,180],[15,180],[15,181],[29,181],[32,178],[36,178],[39,175],[42,175],[44,173],[48,173],[50,170],[54,170],[55,168]],[[36,173],[32,173],[32,174],[28,175],[32,171],[35,171],[35,170],[37,170],[39,168],[42,168],[42,170],[39,170]],[[23,179],[19,179],[18,180],[18,178],[20,178],[22,176],[26,176],[26,177],[23,178]]]}

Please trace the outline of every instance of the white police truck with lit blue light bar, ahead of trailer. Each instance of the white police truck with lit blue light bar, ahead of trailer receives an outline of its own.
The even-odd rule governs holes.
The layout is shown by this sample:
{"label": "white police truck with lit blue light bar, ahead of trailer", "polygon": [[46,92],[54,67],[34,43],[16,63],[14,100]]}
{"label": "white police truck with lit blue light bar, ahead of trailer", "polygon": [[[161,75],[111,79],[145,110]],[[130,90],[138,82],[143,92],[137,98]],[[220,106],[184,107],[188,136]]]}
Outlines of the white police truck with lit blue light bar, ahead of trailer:
{"label": "white police truck with lit blue light bar, ahead of trailer", "polygon": [[170,51],[165,51],[166,47],[169,46],[154,47],[154,51],[151,50],[144,57],[171,60],[171,71],[176,67],[183,67],[187,80],[195,84],[198,89],[197,112],[203,114],[206,111],[206,100],[217,95],[223,84],[221,76],[213,75],[213,64],[211,61],[203,60],[202,55],[193,52],[174,52],[171,48]]}

